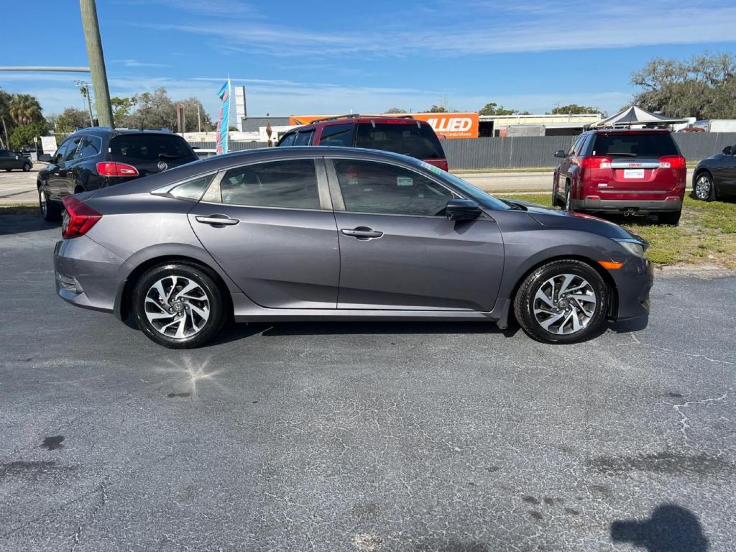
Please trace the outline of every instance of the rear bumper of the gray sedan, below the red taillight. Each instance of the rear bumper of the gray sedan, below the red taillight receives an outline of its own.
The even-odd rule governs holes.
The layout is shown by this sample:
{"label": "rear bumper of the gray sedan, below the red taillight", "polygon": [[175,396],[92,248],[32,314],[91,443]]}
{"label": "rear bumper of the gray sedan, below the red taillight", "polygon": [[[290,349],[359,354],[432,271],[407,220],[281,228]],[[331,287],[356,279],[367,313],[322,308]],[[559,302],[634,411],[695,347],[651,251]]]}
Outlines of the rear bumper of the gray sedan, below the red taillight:
{"label": "rear bumper of the gray sedan, below the red taillight", "polygon": [[123,259],[87,236],[54,247],[56,291],[72,305],[113,312],[118,285],[129,273]]}

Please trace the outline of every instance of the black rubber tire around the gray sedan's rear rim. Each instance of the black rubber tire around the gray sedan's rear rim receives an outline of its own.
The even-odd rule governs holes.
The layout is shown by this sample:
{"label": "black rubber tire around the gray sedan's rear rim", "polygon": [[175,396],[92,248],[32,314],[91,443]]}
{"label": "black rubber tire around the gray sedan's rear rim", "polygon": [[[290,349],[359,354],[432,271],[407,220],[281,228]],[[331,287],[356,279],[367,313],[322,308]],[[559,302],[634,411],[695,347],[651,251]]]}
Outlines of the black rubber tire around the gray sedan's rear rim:
{"label": "black rubber tire around the gray sedan's rear rim", "polygon": [[[201,289],[202,293],[206,297],[206,303],[204,300],[197,299],[195,302],[189,300],[180,300],[186,308],[186,311],[180,311],[181,314],[176,320],[187,319],[183,322],[185,331],[194,331],[194,328],[189,325],[189,319],[193,314],[189,312],[189,305],[196,304],[205,311],[208,311],[208,319],[206,322],[199,327],[195,333],[184,337],[176,337],[171,335],[165,335],[159,328],[156,328],[153,322],[151,322],[146,315],[146,308],[152,309],[149,312],[158,313],[163,312],[164,308],[159,307],[159,311],[156,311],[155,307],[150,305],[146,306],[146,295],[152,293],[154,296],[158,292],[152,291],[152,286],[159,280],[169,280],[171,282],[180,283],[182,280],[174,280],[174,277],[182,277],[196,283]],[[176,288],[176,283],[171,288]],[[166,284],[163,285],[163,289],[166,290]],[[169,289],[171,289],[169,288]],[[174,291],[176,293],[176,291]],[[173,296],[172,296],[173,298]],[[173,308],[176,301],[170,301],[169,304]],[[206,308],[205,308],[206,305]],[[184,308],[184,307],[183,307]],[[149,269],[138,282],[135,283],[135,288],[132,292],[132,312],[135,317],[135,322],[138,324],[138,328],[141,328],[143,333],[152,341],[169,347],[170,349],[192,349],[194,347],[201,347],[202,345],[209,342],[216,333],[222,328],[222,323],[225,319],[225,308],[222,300],[222,294],[219,287],[216,284],[215,276],[212,272],[207,269],[202,269],[199,266],[186,263],[166,263],[158,266],[154,266]],[[163,322],[161,325],[166,325],[169,321],[174,321],[174,315],[168,317],[166,314],[165,318],[162,318]],[[202,319],[197,319],[197,322],[202,322]],[[188,326],[188,328],[187,328]],[[179,327],[179,324],[174,324],[175,328]],[[171,332],[171,330],[165,330]]]}

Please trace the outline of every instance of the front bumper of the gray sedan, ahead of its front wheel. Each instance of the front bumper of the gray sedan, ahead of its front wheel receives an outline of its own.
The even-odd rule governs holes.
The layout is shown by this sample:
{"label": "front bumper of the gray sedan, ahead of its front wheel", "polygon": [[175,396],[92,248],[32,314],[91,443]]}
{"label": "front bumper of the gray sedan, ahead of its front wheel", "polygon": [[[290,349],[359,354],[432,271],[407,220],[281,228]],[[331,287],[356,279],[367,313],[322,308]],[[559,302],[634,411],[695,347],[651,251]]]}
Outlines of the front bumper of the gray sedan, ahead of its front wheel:
{"label": "front bumper of the gray sedan, ahead of its front wheel", "polygon": [[618,291],[614,318],[619,322],[640,322],[646,326],[649,317],[649,292],[654,285],[654,265],[647,259],[630,257],[618,270],[609,272]]}

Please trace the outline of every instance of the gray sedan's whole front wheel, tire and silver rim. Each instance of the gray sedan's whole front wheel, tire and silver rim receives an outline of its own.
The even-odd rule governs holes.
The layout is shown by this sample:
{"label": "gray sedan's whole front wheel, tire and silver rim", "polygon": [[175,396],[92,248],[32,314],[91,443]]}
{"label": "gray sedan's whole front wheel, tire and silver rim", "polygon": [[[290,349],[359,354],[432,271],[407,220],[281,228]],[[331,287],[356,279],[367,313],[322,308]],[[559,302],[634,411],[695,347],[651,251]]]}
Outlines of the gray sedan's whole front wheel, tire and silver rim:
{"label": "gray sedan's whole front wheel, tire and silver rim", "polygon": [[526,334],[544,343],[575,343],[597,335],[605,323],[608,289],[582,261],[552,261],[531,272],[514,298]]}

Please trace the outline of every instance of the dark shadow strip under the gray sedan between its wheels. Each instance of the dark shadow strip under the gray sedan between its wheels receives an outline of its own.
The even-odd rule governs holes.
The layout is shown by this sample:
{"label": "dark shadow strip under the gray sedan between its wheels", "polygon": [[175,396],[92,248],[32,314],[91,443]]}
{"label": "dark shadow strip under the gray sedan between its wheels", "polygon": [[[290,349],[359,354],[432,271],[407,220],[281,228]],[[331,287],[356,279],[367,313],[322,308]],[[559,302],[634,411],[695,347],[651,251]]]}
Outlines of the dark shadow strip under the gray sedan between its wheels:
{"label": "dark shadow strip under the gray sedan between its wheels", "polygon": [[250,322],[231,324],[211,343],[212,345],[237,341],[244,337],[263,336],[330,336],[330,335],[391,335],[433,333],[486,333],[504,337],[514,336],[519,327],[509,325],[500,330],[493,322]]}

